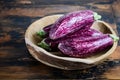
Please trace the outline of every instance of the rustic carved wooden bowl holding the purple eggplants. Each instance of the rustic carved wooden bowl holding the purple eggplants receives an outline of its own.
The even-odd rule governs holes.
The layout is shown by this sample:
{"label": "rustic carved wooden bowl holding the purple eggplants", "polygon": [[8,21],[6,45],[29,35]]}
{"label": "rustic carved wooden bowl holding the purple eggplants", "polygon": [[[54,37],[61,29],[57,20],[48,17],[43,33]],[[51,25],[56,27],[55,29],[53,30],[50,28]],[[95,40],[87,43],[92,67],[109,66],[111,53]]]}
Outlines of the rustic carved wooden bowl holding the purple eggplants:
{"label": "rustic carved wooden bowl holding the purple eggplants", "polygon": [[[102,51],[101,53],[88,58],[66,57],[60,52],[48,52],[43,48],[38,47],[36,43],[40,42],[40,38],[36,36],[36,32],[38,32],[43,27],[54,23],[60,16],[62,15],[46,16],[32,23],[26,30],[25,42],[27,48],[30,54],[38,61],[48,66],[65,70],[84,69],[101,63],[110,54],[112,54],[117,47],[117,42],[114,42],[113,46],[110,49]],[[94,22],[92,28],[97,29],[103,33],[111,33],[116,35],[113,29],[103,21]]]}

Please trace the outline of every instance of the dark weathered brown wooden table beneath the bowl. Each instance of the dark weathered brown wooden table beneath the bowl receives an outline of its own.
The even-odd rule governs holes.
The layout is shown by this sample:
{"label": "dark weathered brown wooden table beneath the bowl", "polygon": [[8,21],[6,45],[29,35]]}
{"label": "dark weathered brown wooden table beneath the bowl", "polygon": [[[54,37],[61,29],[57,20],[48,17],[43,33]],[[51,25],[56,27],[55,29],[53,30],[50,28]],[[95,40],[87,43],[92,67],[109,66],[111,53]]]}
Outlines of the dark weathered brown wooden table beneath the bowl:
{"label": "dark weathered brown wooden table beneath the bowl", "polygon": [[120,43],[103,63],[66,71],[46,66],[28,52],[24,33],[34,21],[51,14],[92,9],[120,36],[120,0],[0,0],[1,79],[120,79]]}

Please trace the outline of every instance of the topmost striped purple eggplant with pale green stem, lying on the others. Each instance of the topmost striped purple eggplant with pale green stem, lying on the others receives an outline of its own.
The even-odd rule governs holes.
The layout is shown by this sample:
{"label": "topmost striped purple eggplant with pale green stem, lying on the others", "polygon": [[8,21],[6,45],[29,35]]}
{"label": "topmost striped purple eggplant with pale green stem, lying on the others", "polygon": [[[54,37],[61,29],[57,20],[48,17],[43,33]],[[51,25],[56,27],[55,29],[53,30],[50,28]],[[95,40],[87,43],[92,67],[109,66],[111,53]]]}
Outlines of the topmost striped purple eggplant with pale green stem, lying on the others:
{"label": "topmost striped purple eggplant with pale green stem, lying on the others", "polygon": [[66,36],[69,33],[76,32],[82,28],[90,28],[101,16],[91,10],[82,10],[68,13],[58,19],[50,29],[49,37],[53,40]]}

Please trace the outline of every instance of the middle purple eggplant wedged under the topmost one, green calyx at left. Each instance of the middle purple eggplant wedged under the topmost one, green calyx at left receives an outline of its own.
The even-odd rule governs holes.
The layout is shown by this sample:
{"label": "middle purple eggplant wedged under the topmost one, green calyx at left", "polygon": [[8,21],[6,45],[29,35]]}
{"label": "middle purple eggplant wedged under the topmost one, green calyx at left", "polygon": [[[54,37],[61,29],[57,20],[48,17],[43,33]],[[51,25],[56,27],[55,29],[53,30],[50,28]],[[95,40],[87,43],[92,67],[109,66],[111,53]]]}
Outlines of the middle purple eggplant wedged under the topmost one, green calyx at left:
{"label": "middle purple eggplant wedged under the topmost one, green calyx at left", "polygon": [[56,51],[58,50],[58,44],[67,39],[72,39],[77,37],[80,37],[81,39],[85,39],[85,37],[88,37],[88,36],[91,38],[91,37],[99,36],[102,34],[103,33],[94,29],[81,29],[81,30],[78,30],[77,32],[74,32],[73,34],[68,34],[66,37],[63,37],[57,40],[52,40],[49,37],[44,38],[40,43],[38,43],[38,46],[48,51]]}

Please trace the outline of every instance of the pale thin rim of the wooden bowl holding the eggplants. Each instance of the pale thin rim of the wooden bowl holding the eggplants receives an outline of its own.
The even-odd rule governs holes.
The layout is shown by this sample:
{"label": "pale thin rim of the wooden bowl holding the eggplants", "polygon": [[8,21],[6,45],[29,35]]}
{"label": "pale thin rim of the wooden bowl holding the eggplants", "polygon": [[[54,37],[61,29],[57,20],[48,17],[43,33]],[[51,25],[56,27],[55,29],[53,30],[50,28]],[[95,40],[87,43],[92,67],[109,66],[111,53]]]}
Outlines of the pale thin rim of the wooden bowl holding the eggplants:
{"label": "pale thin rim of the wooden bowl holding the eggplants", "polygon": [[[36,20],[35,22],[33,22],[33,23],[27,28],[27,30],[26,30],[26,32],[25,32],[25,43],[31,45],[32,47],[34,47],[34,49],[35,49],[36,51],[41,51],[41,52],[43,52],[44,54],[50,56],[51,58],[54,57],[54,58],[56,58],[56,59],[62,59],[62,60],[71,61],[71,62],[82,62],[82,63],[85,63],[85,64],[94,64],[94,63],[97,63],[97,62],[105,59],[106,57],[108,57],[108,56],[109,56],[110,54],[112,54],[113,51],[116,49],[117,43],[118,43],[117,41],[113,43],[112,48],[109,49],[105,54],[103,54],[103,55],[101,55],[101,56],[99,56],[99,57],[97,57],[97,58],[95,58],[95,59],[92,59],[92,60],[91,60],[91,59],[86,59],[86,58],[60,57],[60,56],[51,54],[50,52],[44,50],[43,48],[38,47],[37,45],[33,44],[33,43],[28,39],[28,33],[29,33],[30,28],[33,27],[33,26],[32,26],[33,24],[36,24],[37,22],[42,21],[42,20],[47,19],[47,18],[60,17],[60,16],[62,16],[62,15],[63,15],[63,14],[49,15],[49,16],[45,16],[45,17],[43,17],[43,18],[41,18],[41,19]],[[114,32],[114,30],[112,29],[112,27],[111,27],[108,23],[106,23],[106,22],[104,22],[104,21],[101,21],[101,20],[97,20],[96,22],[99,22],[99,23],[104,24],[107,28],[110,29],[110,31],[112,32],[112,34],[116,35],[116,33]],[[29,52],[30,52],[30,51],[29,51]],[[30,52],[30,53],[31,53],[31,52]],[[32,53],[31,53],[31,54],[32,54]]]}

